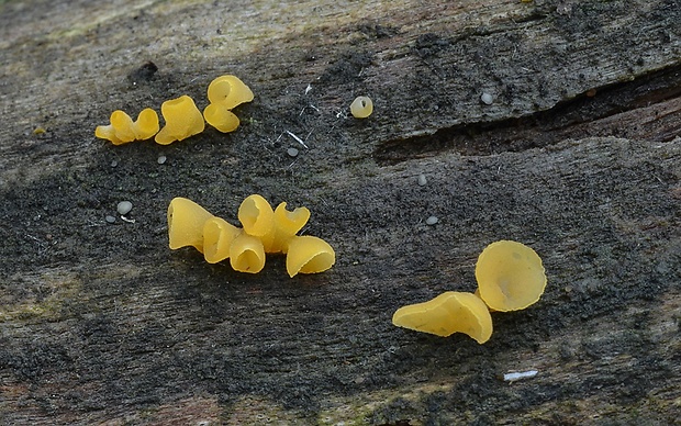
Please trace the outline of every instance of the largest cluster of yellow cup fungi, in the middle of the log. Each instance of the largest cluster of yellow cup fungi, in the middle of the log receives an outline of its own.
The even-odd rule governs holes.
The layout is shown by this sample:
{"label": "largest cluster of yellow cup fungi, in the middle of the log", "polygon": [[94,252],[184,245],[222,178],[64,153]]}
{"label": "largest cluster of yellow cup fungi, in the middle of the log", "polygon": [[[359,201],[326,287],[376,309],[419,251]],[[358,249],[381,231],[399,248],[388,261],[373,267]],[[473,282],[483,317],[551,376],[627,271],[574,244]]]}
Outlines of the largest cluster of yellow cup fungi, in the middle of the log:
{"label": "largest cluster of yellow cup fungi, in the middle of the log", "polygon": [[322,238],[295,235],[308,223],[310,211],[306,208],[288,211],[286,206],[282,202],[272,210],[261,195],[247,197],[238,208],[243,225],[239,228],[191,200],[176,198],[168,206],[170,248],[192,246],[209,264],[228,258],[232,268],[239,272],[263,270],[266,253],[286,254],[291,278],[330,269],[336,261],[331,245]]}

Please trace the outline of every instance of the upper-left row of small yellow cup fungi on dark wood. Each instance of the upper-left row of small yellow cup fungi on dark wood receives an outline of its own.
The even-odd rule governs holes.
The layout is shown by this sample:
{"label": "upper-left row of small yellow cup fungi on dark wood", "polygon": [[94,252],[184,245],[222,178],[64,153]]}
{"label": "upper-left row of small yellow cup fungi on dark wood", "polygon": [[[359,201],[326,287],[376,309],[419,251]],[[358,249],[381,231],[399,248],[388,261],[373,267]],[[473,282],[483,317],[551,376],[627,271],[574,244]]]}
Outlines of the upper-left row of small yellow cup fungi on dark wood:
{"label": "upper-left row of small yellow cup fungi on dark wood", "polygon": [[158,114],[150,108],[143,110],[134,122],[125,112],[116,110],[111,113],[111,124],[97,126],[94,136],[111,141],[114,145],[155,136],[157,144],[168,145],[203,132],[205,122],[222,133],[234,132],[239,121],[231,110],[253,101],[253,92],[237,77],[227,75],[217,77],[210,83],[208,99],[210,104],[203,110],[203,114],[187,94],[165,101],[160,105],[160,113],[166,122],[163,128],[158,123]]}

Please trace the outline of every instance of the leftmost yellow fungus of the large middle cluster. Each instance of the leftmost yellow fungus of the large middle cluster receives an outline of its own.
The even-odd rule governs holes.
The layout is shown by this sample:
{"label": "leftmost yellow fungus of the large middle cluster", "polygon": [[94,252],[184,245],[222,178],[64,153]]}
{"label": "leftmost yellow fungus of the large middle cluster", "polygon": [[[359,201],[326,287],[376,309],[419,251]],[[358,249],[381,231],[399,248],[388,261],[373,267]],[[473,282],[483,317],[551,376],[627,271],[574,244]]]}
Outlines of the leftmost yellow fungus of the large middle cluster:
{"label": "leftmost yellow fungus of the large middle cluster", "polygon": [[171,249],[193,246],[203,253],[203,226],[213,217],[191,200],[178,197],[168,205],[168,237]]}

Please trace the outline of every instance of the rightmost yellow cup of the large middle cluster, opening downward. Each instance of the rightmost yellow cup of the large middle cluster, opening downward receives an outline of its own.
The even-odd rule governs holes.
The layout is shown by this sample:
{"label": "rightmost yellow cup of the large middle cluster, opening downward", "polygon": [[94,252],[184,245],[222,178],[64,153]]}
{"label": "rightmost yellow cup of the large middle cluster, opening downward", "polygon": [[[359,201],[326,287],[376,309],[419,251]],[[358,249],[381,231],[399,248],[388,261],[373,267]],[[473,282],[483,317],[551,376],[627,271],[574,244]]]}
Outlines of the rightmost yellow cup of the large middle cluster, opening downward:
{"label": "rightmost yellow cup of the large middle cluster, opening downward", "polygon": [[286,257],[289,277],[323,272],[336,262],[336,253],[322,238],[310,235],[292,237]]}

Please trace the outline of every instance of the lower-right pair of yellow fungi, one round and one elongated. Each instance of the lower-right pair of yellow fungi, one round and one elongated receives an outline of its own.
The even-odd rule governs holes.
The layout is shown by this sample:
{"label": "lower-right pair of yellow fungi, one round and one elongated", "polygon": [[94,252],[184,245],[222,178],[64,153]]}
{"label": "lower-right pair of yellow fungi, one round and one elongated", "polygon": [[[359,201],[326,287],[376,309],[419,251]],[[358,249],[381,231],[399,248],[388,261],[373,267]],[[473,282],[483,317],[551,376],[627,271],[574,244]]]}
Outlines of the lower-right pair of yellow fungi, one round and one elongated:
{"label": "lower-right pair of yellow fungi, one round and one elongated", "polygon": [[520,311],[536,303],[546,288],[542,259],[522,243],[500,240],[482,250],[476,264],[476,293],[448,291],[424,303],[400,307],[399,327],[447,337],[464,333],[479,344],[492,336],[490,311]]}

